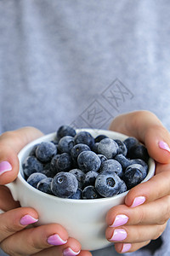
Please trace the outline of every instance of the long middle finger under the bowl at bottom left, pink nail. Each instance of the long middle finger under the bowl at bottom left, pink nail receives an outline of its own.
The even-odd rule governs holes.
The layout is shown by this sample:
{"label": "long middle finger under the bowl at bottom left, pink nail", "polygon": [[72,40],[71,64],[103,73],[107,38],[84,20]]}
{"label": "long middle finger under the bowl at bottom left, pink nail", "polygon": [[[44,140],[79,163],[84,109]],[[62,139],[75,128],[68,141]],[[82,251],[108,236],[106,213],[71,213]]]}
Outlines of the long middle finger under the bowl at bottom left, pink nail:
{"label": "long middle finger under the bowl at bottom left, pink nail", "polygon": [[[9,255],[31,255],[43,249],[66,244],[68,234],[59,224],[47,224],[36,228],[20,230],[1,242],[1,247]],[[81,245],[72,239],[74,249],[80,251]],[[17,253],[17,254],[14,254]]]}

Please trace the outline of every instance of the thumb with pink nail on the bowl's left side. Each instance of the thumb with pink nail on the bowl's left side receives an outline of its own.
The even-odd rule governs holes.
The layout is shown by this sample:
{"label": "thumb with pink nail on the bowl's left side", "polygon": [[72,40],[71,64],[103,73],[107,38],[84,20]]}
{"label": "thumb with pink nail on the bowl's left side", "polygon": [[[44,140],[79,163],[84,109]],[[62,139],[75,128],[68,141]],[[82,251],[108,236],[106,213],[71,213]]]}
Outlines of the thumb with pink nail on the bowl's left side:
{"label": "thumb with pink nail on the bowl's left side", "polygon": [[19,172],[18,153],[35,140],[42,132],[34,127],[24,127],[15,131],[6,131],[0,136],[0,184],[14,181]]}

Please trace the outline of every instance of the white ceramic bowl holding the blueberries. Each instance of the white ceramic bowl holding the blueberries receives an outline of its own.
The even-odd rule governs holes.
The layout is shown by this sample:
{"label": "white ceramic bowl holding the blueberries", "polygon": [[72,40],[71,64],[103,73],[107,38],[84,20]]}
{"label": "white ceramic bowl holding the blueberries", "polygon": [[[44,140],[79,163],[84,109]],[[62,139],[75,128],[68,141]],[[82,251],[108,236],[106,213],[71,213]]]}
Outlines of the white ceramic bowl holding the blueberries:
{"label": "white ceramic bowl holding the blueberries", "polygon": [[[114,131],[83,129],[78,131],[89,131],[94,137],[105,134],[114,139],[124,140],[127,136]],[[58,223],[65,227],[69,236],[76,238],[82,244],[82,249],[96,250],[110,245],[105,239],[105,215],[111,207],[124,203],[127,192],[109,198],[94,200],[63,199],[54,195],[42,193],[26,183],[23,178],[22,162],[31,152],[31,148],[41,142],[54,139],[56,133],[48,134],[29,143],[20,151],[20,172],[8,188],[15,201],[20,201],[21,207],[33,207],[39,214],[37,224]],[[155,162],[149,160],[149,172],[144,181],[147,181],[155,173]]]}

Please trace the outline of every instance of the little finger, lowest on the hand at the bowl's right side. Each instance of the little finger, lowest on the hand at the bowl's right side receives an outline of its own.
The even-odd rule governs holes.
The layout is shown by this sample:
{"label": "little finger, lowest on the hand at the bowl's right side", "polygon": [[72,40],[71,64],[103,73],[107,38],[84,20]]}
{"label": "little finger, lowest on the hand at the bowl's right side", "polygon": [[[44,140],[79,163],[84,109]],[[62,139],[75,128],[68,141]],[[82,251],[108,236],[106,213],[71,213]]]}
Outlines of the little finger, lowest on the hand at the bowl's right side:
{"label": "little finger, lowest on the hand at the bowl's right side", "polygon": [[116,243],[115,249],[117,253],[133,253],[142,247],[148,245],[150,241],[136,242],[136,243]]}

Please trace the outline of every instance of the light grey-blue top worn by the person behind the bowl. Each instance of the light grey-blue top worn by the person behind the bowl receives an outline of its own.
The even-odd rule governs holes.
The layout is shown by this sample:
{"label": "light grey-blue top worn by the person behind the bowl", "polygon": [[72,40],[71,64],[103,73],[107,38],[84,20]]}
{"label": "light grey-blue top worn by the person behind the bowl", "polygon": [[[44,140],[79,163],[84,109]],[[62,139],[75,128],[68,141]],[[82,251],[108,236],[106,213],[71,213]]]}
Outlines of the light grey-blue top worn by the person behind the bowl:
{"label": "light grey-blue top worn by the person behind the bowl", "polygon": [[[168,0],[0,1],[0,132],[106,129],[137,109],[170,130],[169,12]],[[169,233],[155,256],[169,255]]]}

